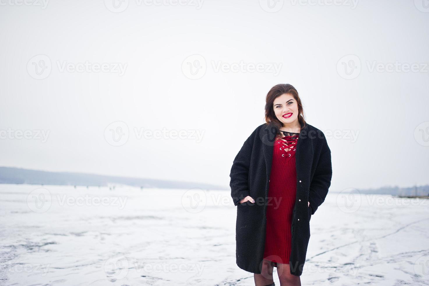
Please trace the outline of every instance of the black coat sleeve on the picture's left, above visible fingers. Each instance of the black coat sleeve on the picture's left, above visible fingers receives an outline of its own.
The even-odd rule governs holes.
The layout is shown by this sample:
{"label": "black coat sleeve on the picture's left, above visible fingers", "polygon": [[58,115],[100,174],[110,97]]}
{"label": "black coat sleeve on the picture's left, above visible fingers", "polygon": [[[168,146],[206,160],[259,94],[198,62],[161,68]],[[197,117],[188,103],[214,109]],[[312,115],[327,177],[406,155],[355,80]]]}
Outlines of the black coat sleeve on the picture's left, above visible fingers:
{"label": "black coat sleeve on the picture's left, above visible fingers", "polygon": [[249,137],[243,144],[241,150],[236,155],[233,166],[230,172],[230,187],[231,197],[233,198],[234,205],[237,206],[239,202],[247,196],[250,196],[248,176],[250,158],[252,153],[251,137]]}

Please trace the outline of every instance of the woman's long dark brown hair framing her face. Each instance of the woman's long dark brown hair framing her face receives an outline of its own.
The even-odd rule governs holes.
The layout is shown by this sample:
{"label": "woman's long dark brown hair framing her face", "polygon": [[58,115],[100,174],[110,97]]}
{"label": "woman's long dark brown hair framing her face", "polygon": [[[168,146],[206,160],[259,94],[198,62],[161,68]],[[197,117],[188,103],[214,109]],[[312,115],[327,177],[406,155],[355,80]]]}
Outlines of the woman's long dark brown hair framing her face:
{"label": "woman's long dark brown hair framing her face", "polygon": [[275,126],[277,129],[277,134],[280,134],[280,128],[283,124],[278,120],[274,113],[274,100],[278,98],[280,95],[288,93],[295,98],[298,103],[298,121],[301,124],[301,128],[305,127],[305,114],[304,109],[302,108],[301,99],[299,98],[298,91],[289,83],[280,83],[278,85],[273,86],[266,96],[266,104],[265,104],[265,121],[267,124],[271,124]]}

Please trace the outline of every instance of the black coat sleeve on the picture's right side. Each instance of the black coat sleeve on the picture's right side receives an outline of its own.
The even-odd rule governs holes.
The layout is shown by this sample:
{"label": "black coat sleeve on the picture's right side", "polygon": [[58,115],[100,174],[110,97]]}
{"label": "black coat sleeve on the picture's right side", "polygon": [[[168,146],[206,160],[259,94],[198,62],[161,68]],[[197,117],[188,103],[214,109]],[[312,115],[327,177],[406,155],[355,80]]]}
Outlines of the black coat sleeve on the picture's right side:
{"label": "black coat sleeve on the picture's right side", "polygon": [[326,138],[323,139],[322,153],[314,171],[308,195],[312,215],[325,200],[332,179],[331,150],[328,147]]}

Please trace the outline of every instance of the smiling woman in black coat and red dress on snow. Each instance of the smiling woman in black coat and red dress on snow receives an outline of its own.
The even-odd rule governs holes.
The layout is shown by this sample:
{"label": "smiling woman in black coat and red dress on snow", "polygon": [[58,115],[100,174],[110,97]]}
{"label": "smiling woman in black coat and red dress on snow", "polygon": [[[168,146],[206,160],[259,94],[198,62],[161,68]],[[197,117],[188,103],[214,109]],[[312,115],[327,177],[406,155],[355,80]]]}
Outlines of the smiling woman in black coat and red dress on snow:
{"label": "smiling woman in black coat and red dress on snow", "polygon": [[305,122],[298,92],[273,86],[266,123],[244,142],[230,173],[237,206],[236,263],[256,286],[301,285],[310,218],[331,185],[331,151],[322,131]]}

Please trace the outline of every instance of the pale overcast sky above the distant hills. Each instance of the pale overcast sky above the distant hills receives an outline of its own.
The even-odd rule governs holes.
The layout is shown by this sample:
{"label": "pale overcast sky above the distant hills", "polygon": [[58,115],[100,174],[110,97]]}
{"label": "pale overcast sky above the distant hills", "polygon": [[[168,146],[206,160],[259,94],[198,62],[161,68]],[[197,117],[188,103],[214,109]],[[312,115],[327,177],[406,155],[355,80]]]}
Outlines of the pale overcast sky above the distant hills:
{"label": "pale overcast sky above the distant hills", "polygon": [[332,191],[429,183],[422,1],[173,3],[1,1],[0,165],[228,187],[290,83],[337,132]]}

